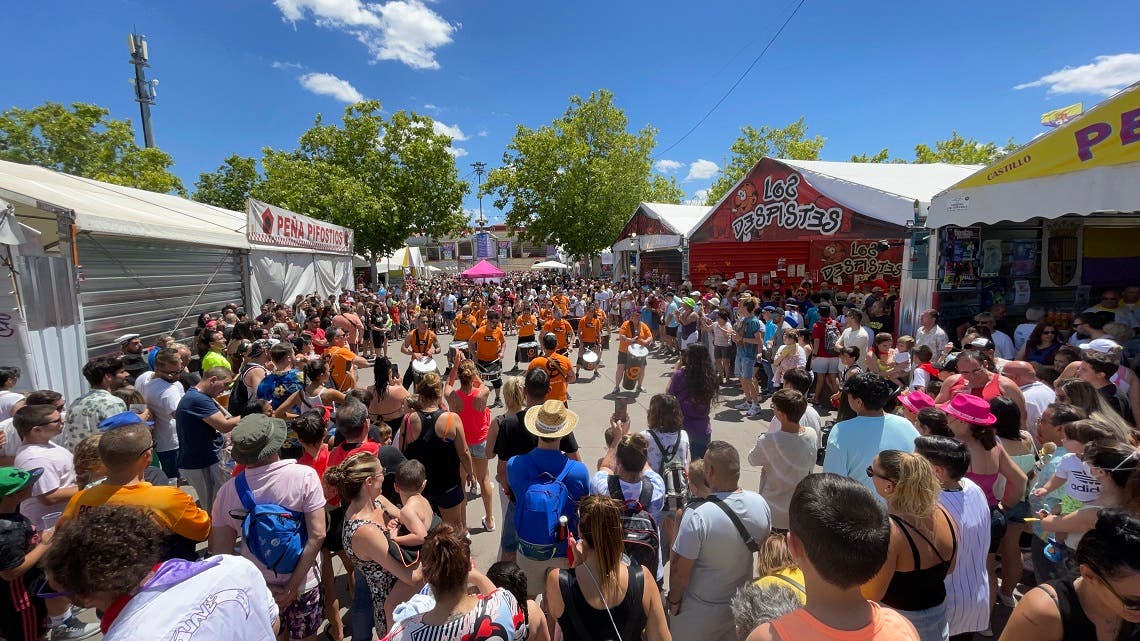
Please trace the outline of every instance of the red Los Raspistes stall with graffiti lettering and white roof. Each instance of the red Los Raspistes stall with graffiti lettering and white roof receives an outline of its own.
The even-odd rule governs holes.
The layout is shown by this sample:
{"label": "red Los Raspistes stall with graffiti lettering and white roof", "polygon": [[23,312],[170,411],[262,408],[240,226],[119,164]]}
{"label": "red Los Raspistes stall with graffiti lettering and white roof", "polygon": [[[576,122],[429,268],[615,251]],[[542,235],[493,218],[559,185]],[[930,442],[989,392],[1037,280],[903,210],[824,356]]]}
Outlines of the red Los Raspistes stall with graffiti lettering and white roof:
{"label": "red Los Raspistes stall with graffiti lettering and white roof", "polygon": [[897,284],[909,226],[934,194],[975,169],[762,159],[693,228],[692,282]]}

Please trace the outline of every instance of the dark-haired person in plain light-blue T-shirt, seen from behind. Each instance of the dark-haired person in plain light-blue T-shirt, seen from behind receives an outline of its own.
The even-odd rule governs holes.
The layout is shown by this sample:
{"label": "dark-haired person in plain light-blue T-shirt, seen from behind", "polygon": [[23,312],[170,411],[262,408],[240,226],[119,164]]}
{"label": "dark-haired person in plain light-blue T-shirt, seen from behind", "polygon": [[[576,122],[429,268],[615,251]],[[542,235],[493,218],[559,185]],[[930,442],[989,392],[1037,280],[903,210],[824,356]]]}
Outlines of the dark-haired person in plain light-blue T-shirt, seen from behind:
{"label": "dark-haired person in plain light-blue T-shirt, seen from behind", "polygon": [[883,412],[894,395],[894,384],[887,379],[863,372],[844,386],[847,400],[858,415],[831,429],[823,471],[850,477],[873,490],[873,479],[866,470],[874,457],[883,449],[914,452],[919,432],[906,419]]}

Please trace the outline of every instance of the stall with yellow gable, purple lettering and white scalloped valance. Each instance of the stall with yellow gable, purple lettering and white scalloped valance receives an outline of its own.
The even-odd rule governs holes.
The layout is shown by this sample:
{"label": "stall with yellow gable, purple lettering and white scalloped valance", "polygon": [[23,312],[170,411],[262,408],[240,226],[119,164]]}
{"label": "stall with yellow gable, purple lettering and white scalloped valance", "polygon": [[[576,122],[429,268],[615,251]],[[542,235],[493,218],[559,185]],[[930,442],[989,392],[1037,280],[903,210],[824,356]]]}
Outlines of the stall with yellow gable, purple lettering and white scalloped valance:
{"label": "stall with yellow gable, purple lettering and white scalloped valance", "polygon": [[929,305],[1062,324],[1092,290],[1140,284],[1140,83],[936,195]]}

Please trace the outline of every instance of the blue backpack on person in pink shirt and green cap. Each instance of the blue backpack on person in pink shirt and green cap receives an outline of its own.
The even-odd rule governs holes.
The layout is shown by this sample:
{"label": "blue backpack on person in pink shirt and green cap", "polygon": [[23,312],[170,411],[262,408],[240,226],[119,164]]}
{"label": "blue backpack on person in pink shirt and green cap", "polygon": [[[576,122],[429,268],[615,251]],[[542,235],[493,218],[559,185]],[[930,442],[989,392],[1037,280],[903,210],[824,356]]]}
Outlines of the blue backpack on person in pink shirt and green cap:
{"label": "blue backpack on person in pink shirt and green cap", "polygon": [[253,558],[274,574],[291,574],[301,560],[301,551],[309,539],[304,514],[276,503],[258,504],[245,480],[245,472],[237,474],[234,487],[246,510],[242,520],[242,541]]}

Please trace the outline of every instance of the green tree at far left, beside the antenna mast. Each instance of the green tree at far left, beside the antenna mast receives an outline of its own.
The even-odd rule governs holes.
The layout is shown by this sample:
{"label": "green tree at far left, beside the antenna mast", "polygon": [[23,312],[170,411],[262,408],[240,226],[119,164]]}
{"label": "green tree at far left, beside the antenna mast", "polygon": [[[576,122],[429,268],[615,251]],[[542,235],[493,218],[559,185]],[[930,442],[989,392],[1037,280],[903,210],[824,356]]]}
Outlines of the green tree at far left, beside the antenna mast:
{"label": "green tree at far left, beside the antenna mast", "polygon": [[44,103],[0,113],[0,159],[150,192],[186,194],[170,154],[135,144],[130,121],[98,105]]}

